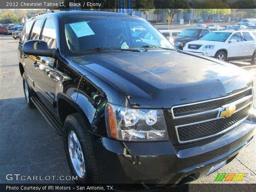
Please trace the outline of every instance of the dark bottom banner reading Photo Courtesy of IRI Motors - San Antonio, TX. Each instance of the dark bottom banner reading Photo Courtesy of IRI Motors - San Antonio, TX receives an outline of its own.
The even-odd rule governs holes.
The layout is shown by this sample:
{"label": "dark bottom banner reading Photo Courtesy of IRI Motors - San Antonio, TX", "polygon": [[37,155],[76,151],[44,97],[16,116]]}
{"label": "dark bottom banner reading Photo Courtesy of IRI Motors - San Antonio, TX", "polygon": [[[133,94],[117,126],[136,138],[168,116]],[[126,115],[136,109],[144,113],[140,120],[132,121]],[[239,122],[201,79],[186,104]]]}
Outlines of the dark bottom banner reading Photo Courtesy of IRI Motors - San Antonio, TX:
{"label": "dark bottom banner reading Photo Courtesy of IRI Motors - San Antonio, TX", "polygon": [[0,184],[0,192],[255,192],[256,184]]}

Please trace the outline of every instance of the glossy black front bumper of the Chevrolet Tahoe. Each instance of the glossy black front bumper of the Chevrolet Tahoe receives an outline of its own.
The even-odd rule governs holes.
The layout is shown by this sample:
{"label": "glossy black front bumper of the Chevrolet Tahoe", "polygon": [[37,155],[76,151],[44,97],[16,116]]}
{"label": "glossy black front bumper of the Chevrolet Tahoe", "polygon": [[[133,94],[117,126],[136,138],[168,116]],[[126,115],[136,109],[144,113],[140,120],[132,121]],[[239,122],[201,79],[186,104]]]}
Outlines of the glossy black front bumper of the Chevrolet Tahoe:
{"label": "glossy black front bumper of the Chevrolet Tahoe", "polygon": [[104,183],[169,184],[175,186],[206,176],[224,160],[229,163],[255,133],[255,116],[218,138],[173,146],[166,142],[120,142],[96,139],[94,152]]}

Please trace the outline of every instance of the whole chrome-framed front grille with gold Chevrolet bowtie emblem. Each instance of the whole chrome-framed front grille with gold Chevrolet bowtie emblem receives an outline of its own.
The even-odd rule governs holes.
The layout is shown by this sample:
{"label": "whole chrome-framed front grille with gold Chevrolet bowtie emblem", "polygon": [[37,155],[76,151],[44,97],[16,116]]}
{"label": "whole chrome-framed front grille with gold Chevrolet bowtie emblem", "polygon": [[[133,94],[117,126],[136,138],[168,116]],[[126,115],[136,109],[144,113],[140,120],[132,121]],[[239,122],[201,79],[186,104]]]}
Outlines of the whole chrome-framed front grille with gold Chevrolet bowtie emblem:
{"label": "whole chrome-framed front grille with gold Chevrolet bowtie emblem", "polygon": [[[252,105],[252,92],[252,88],[248,88],[230,96],[172,107],[178,142],[186,143],[210,138],[243,122],[248,117]],[[227,112],[223,113],[230,107],[234,108],[232,113],[228,115]]]}

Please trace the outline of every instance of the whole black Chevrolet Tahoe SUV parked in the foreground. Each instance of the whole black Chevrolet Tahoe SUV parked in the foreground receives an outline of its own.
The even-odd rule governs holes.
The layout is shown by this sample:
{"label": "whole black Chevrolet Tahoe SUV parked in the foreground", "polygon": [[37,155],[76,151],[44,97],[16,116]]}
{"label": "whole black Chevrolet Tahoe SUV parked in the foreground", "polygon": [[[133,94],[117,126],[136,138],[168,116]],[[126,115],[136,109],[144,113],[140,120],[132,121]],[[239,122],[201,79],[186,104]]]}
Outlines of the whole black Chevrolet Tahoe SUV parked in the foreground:
{"label": "whole black Chevrolet Tahoe SUV parked in the foreground", "polygon": [[191,182],[253,139],[248,73],[177,50],[137,16],[32,17],[18,58],[26,103],[63,136],[78,183]]}

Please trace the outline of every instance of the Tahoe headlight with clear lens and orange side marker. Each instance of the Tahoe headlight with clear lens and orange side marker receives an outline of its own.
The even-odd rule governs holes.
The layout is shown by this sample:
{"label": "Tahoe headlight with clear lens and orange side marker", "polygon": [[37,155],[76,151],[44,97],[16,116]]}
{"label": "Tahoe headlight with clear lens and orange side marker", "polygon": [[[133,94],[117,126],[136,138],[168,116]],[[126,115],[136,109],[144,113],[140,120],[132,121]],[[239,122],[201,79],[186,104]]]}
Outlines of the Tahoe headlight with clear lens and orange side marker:
{"label": "Tahoe headlight with clear lens and orange side marker", "polygon": [[124,141],[164,141],[168,132],[163,110],[106,105],[108,136]]}

